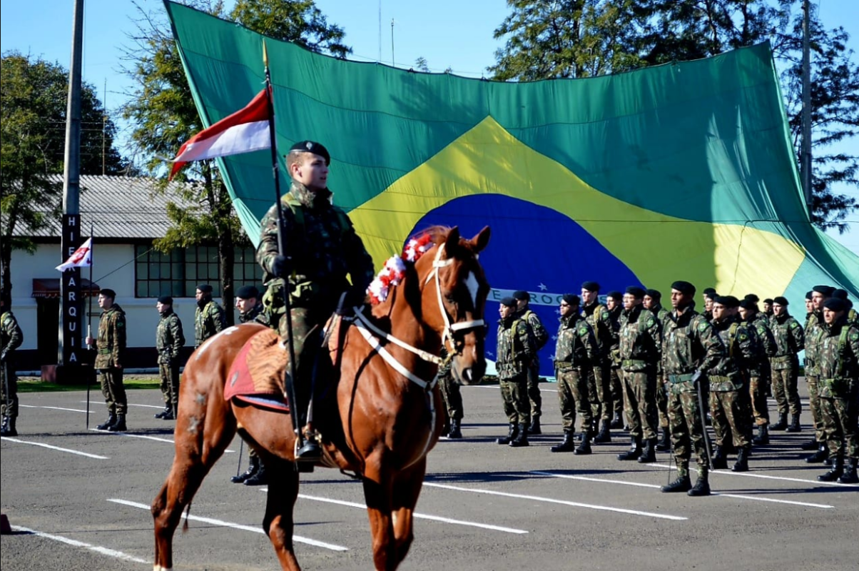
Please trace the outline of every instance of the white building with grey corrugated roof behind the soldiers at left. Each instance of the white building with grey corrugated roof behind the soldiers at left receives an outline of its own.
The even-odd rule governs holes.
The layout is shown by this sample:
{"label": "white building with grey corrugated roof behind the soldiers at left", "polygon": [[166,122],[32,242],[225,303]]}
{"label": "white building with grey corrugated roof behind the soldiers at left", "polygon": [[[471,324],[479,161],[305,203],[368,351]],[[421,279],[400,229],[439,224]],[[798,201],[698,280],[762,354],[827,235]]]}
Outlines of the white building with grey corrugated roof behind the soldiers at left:
{"label": "white building with grey corrugated roof behind the soldiers at left", "polygon": [[[170,226],[168,201],[179,199],[154,193],[149,179],[82,176],[81,190],[82,230],[88,232],[93,225],[93,282],[98,288],[114,290],[116,303],[125,310],[129,349],[126,368],[157,366],[155,327],[159,316],[155,301],[162,295],[174,298],[174,310],[185,331],[186,353],[190,354],[198,284],[210,284],[216,301],[222,303],[216,247],[178,249],[168,255],[153,249],[153,240],[164,236]],[[59,225],[55,224],[32,236],[38,244],[34,255],[22,250],[12,252],[12,310],[24,334],[16,358],[19,371],[39,371],[41,365],[57,363],[60,274],[55,267],[64,261],[59,236]],[[236,249],[234,270],[235,289],[245,285],[262,288],[262,270],[254,261],[253,247]],[[82,268],[81,277],[89,279],[89,268]],[[87,282],[83,283],[81,289],[88,289]],[[94,288],[96,295],[98,288]],[[88,310],[88,298],[84,300]],[[238,322],[238,313],[233,310]],[[90,313],[93,336],[98,331],[100,314],[94,298]]]}

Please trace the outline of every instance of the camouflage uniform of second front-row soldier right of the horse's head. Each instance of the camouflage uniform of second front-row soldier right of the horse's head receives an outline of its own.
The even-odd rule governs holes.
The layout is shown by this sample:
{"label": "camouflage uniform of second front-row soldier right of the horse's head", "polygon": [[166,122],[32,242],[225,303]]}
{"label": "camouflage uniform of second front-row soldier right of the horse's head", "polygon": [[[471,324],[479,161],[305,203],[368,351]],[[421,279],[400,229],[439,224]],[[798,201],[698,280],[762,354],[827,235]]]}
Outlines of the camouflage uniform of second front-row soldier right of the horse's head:
{"label": "camouflage uniform of second front-row soldier right of the horse's head", "polygon": [[594,329],[582,316],[570,313],[561,318],[555,345],[557,397],[565,433],[576,430],[576,410],[582,416],[582,433],[591,430],[593,417],[588,402],[588,369],[600,354]]}

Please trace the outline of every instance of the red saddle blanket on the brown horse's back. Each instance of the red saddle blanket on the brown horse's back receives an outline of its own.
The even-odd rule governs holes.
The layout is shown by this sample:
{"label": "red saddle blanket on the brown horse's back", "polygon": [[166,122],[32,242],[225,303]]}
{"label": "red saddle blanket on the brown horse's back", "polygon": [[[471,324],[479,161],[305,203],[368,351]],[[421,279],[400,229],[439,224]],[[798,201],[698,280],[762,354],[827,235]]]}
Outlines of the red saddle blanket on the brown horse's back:
{"label": "red saddle blanket on the brown horse's back", "polygon": [[289,412],[289,403],[283,395],[287,360],[286,348],[273,329],[253,335],[229,369],[224,400],[237,398],[259,407]]}

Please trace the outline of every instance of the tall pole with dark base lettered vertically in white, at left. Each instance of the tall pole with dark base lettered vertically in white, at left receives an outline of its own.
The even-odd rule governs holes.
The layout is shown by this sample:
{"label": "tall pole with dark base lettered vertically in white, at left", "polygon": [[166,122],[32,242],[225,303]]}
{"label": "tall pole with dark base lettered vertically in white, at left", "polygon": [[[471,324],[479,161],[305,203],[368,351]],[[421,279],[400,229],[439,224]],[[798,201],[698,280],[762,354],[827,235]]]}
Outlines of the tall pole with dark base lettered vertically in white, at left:
{"label": "tall pole with dark base lettered vertically in white, at left", "polygon": [[[81,67],[83,48],[83,0],[74,0],[71,28],[69,104],[65,122],[63,176],[63,236],[60,263],[81,245]],[[68,379],[81,364],[81,268],[66,270],[60,277],[58,381]]]}

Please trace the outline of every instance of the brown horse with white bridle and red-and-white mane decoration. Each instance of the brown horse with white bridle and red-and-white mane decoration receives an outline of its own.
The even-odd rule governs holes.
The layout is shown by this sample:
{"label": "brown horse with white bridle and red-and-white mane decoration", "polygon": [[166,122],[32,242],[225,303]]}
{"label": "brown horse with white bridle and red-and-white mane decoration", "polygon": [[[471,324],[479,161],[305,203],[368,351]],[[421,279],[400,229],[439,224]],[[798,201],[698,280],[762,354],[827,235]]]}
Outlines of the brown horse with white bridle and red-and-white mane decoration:
{"label": "brown horse with white bridle and red-and-white mane decoration", "polygon": [[[376,569],[392,571],[413,538],[411,520],[423,486],[426,455],[442,432],[442,407],[435,376],[442,344],[454,354],[454,375],[463,384],[485,371],[484,304],[489,293],[478,252],[489,227],[471,240],[456,228],[428,230],[425,255],[405,265],[372,317],[361,312],[346,329],[338,355],[339,381],[317,397],[314,424],[326,464],[356,472],[373,534]],[[300,569],[292,544],[298,495],[295,433],[287,414],[224,400],[224,384],[241,347],[262,325],[228,328],[206,341],[189,359],[182,378],[173,467],[152,502],[155,571],[173,567],[173,537],[183,509],[235,436],[259,452],[269,477],[263,529],[283,569]],[[327,360],[327,359],[326,359]],[[334,367],[330,367],[334,371]],[[323,414],[320,414],[323,413]]]}

